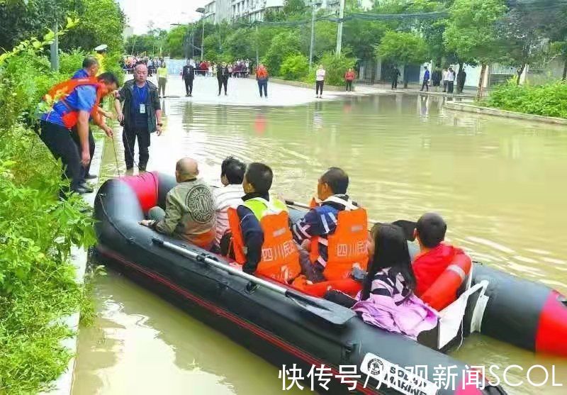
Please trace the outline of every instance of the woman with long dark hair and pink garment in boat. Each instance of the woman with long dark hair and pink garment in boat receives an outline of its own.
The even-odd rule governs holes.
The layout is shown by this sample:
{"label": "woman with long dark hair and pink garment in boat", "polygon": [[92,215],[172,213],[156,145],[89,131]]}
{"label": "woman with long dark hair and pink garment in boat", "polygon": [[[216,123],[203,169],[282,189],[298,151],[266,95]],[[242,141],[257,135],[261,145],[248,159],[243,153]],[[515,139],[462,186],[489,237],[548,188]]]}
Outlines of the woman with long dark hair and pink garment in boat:
{"label": "woman with long dark hair and pink garment in boat", "polygon": [[437,326],[438,313],[413,292],[415,276],[403,230],[377,224],[371,236],[371,263],[352,309],[370,325],[416,340]]}

